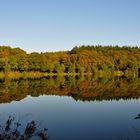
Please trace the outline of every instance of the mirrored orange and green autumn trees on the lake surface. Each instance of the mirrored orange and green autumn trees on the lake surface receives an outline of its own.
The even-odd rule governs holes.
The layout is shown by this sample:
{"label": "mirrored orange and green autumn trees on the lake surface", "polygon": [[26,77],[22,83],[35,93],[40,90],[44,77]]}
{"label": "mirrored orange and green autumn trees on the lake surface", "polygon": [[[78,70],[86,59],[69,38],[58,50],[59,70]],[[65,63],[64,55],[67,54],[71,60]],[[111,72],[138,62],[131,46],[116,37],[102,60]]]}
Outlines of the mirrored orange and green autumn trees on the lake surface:
{"label": "mirrored orange and green autumn trees on the lake surface", "polygon": [[1,81],[0,103],[19,101],[27,95],[71,96],[82,101],[138,99],[140,79],[126,77],[48,77]]}

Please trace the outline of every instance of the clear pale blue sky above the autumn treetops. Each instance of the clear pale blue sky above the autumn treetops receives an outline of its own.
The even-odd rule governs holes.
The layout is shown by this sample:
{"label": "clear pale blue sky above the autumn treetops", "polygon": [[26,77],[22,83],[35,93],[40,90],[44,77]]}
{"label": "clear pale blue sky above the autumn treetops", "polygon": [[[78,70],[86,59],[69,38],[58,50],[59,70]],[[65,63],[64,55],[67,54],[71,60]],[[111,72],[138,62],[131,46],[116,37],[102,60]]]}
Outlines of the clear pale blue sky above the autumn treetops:
{"label": "clear pale blue sky above the autumn treetops", "polygon": [[0,45],[27,52],[140,46],[140,0],[0,0]]}

